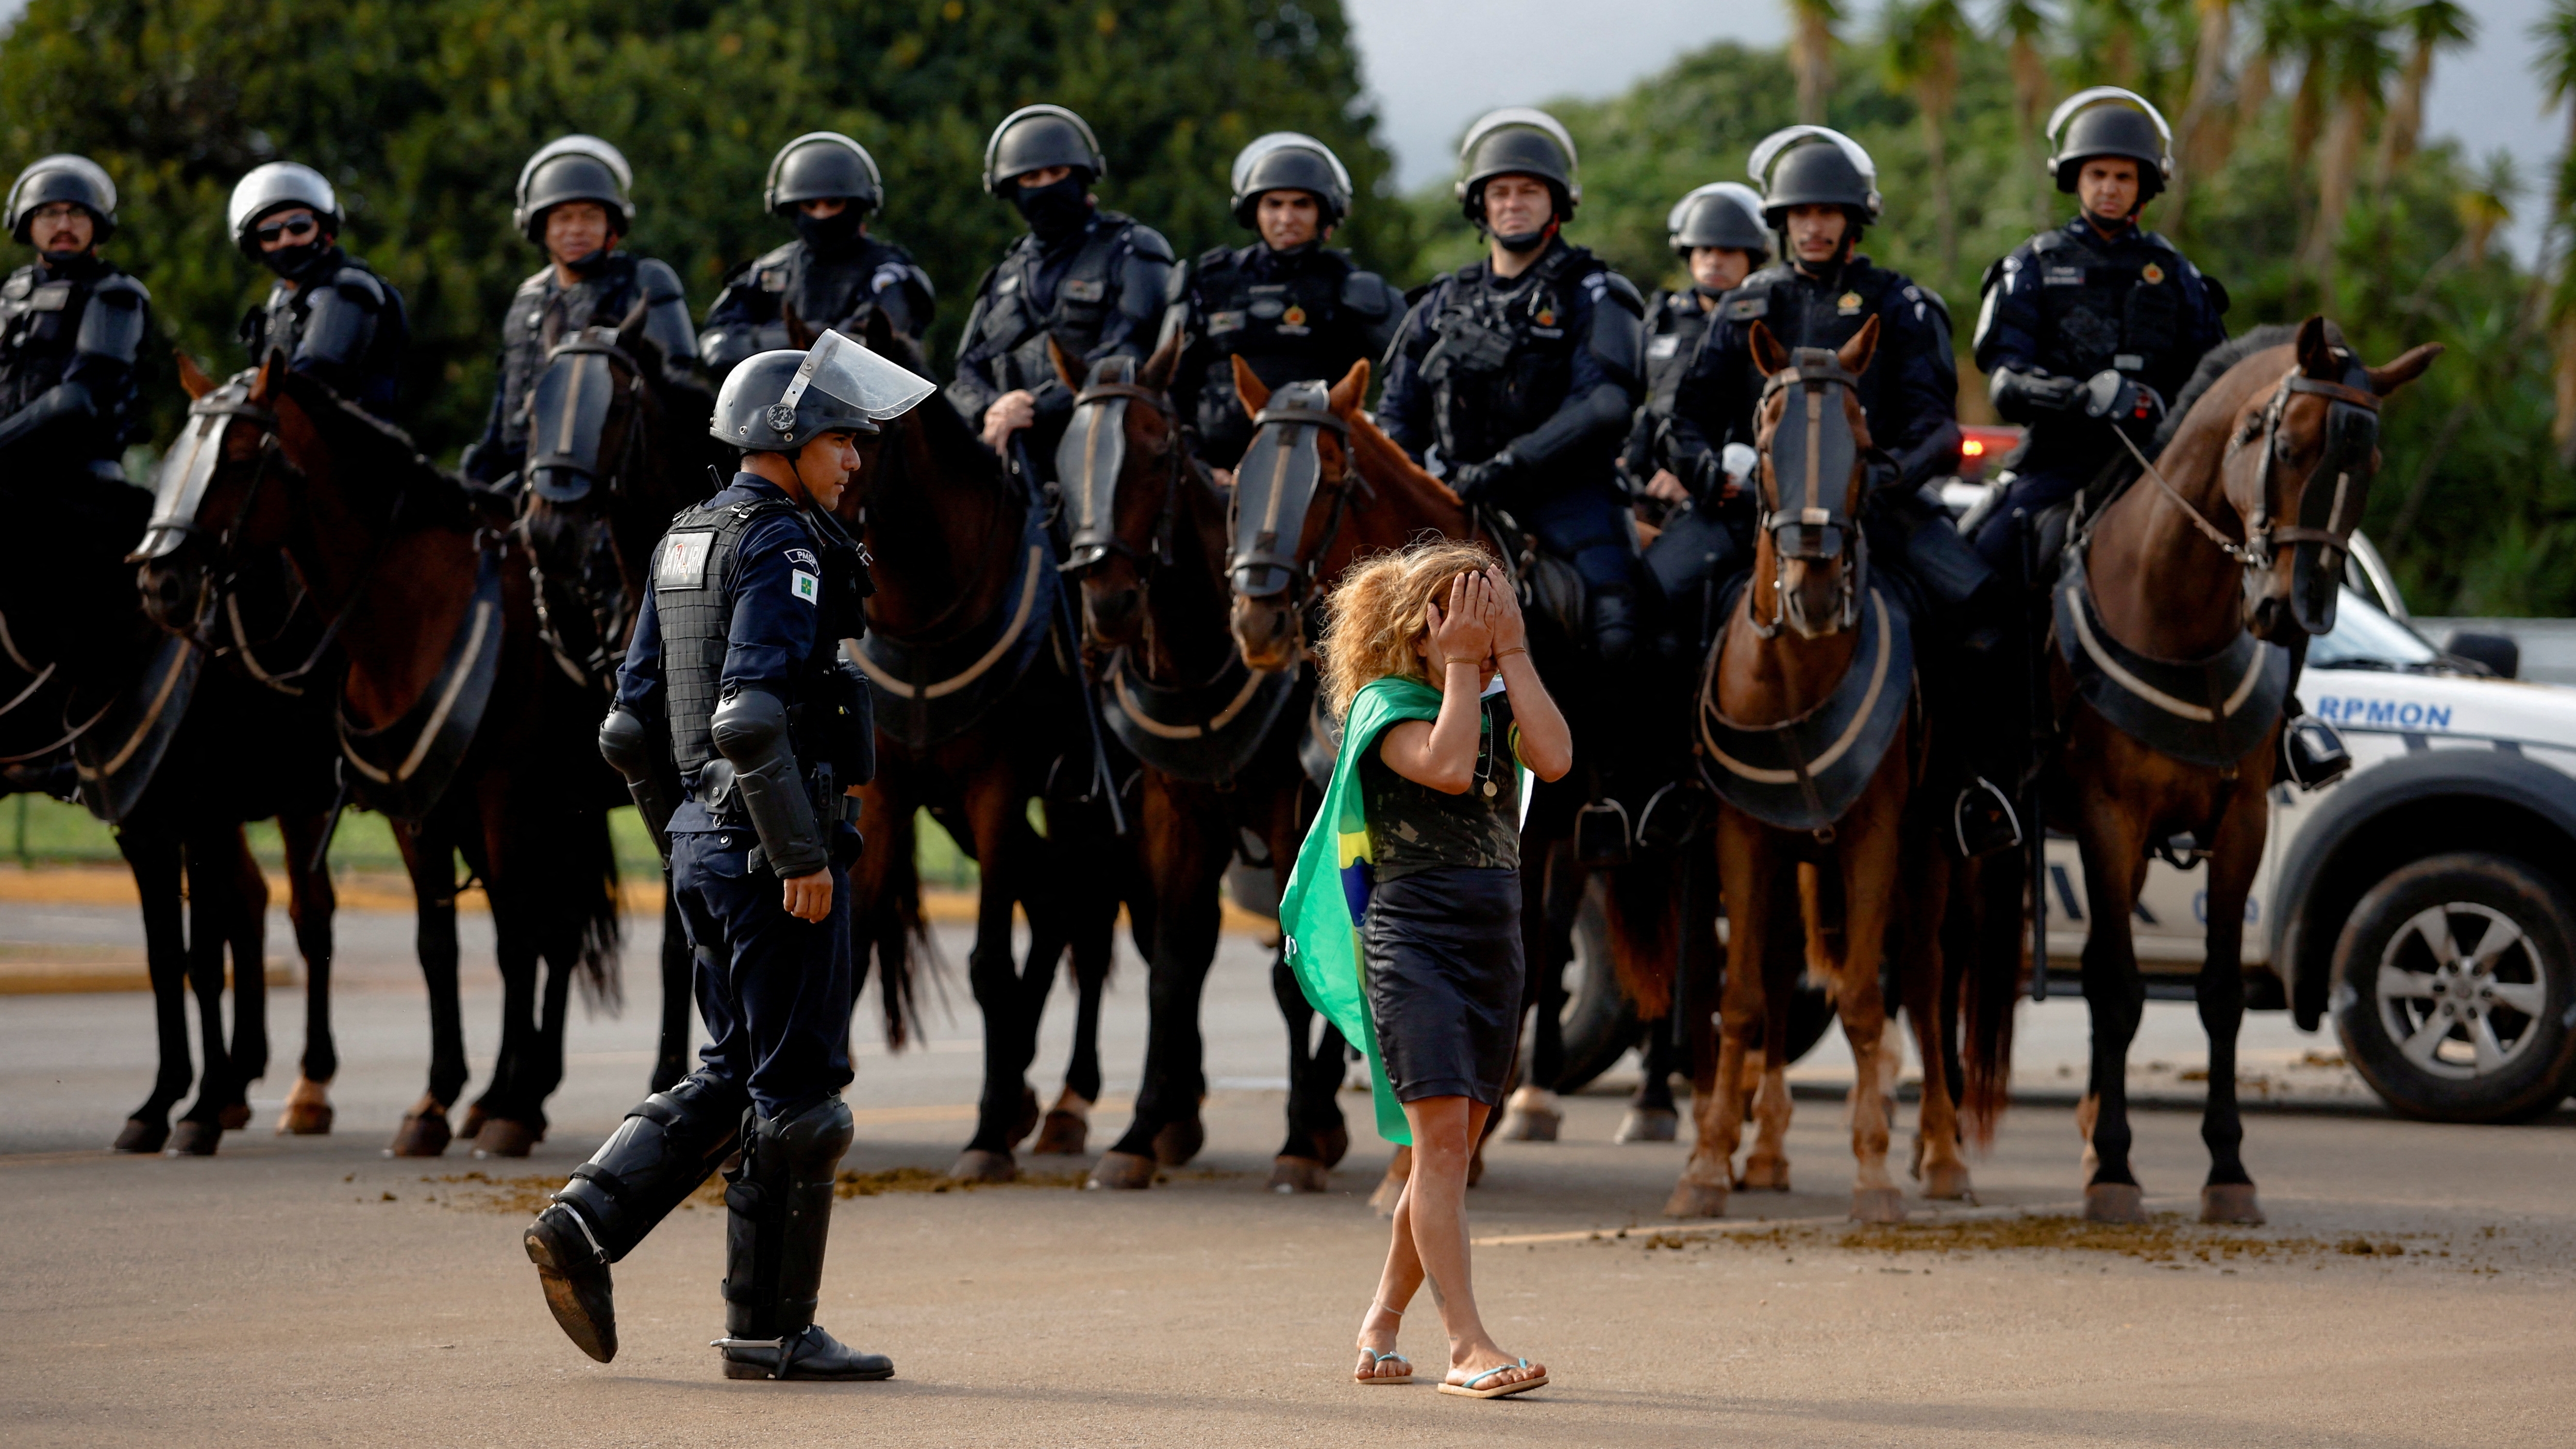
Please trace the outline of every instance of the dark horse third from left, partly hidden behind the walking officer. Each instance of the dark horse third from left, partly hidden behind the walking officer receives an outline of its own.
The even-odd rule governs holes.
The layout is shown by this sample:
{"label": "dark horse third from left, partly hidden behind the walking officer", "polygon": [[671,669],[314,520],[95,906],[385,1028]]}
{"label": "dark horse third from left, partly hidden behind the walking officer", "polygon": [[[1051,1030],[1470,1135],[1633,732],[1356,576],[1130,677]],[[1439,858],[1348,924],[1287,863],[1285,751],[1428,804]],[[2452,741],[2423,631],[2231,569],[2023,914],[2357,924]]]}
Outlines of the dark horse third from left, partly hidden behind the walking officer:
{"label": "dark horse third from left, partly hidden behind the walking officer", "polygon": [[[595,691],[600,712],[644,603],[644,567],[670,518],[714,492],[732,456],[708,438],[716,400],[644,330],[647,304],[616,327],[559,335],[528,400],[528,467],[518,541],[536,585],[536,624],[556,668]],[[623,792],[611,799],[623,804]],[[662,1034],[649,1085],[690,1073],[696,959],[662,882]]]}

